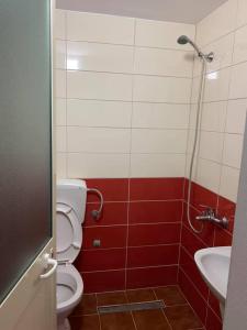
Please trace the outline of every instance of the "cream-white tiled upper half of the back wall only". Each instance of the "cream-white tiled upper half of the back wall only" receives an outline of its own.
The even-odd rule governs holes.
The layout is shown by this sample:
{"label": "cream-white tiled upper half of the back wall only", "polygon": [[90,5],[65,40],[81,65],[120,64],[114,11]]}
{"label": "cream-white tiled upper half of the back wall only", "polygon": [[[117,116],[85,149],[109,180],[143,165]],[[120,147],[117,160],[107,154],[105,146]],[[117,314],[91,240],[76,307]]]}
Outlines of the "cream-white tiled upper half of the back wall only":
{"label": "cream-white tiled upper half of the back wall only", "polygon": [[183,177],[193,52],[177,38],[194,38],[195,28],[71,11],[58,16],[59,175]]}

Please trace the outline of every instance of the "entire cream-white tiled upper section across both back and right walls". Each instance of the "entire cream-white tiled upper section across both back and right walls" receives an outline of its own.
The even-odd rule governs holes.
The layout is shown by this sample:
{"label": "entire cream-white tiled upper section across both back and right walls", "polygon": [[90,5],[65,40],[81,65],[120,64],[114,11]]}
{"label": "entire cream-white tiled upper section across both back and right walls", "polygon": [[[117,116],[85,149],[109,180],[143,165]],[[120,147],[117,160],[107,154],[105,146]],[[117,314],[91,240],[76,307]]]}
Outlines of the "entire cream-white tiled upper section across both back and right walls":
{"label": "entire cream-white tiled upper section across both back and right walls", "polygon": [[[246,26],[246,0],[228,0],[197,25],[198,44],[215,61],[194,179],[232,200],[247,109]],[[188,175],[201,67],[195,61],[192,74],[181,34],[193,40],[195,26],[56,11],[58,176]]]}

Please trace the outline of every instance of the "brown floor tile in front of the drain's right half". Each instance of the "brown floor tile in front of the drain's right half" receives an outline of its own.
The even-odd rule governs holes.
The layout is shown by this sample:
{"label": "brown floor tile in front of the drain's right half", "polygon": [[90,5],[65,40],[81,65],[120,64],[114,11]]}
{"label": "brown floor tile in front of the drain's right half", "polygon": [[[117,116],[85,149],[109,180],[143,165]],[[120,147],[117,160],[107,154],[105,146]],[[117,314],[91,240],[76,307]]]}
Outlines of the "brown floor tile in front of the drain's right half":
{"label": "brown floor tile in front of the drain's right half", "polygon": [[133,311],[133,317],[137,330],[170,330],[160,309]]}

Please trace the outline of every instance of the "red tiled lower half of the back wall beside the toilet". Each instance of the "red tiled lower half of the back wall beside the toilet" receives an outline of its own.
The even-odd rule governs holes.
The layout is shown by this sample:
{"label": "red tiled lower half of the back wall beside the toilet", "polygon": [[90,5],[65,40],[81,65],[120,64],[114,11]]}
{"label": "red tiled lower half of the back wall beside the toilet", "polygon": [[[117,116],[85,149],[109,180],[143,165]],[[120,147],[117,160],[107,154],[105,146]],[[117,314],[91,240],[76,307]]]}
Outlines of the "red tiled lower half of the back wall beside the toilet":
{"label": "red tiled lower half of the back wall beside the toilet", "polygon": [[[87,179],[104,197],[99,221],[87,200],[83,248],[76,266],[85,292],[109,292],[177,283],[183,178]],[[93,240],[101,246],[93,248]]]}

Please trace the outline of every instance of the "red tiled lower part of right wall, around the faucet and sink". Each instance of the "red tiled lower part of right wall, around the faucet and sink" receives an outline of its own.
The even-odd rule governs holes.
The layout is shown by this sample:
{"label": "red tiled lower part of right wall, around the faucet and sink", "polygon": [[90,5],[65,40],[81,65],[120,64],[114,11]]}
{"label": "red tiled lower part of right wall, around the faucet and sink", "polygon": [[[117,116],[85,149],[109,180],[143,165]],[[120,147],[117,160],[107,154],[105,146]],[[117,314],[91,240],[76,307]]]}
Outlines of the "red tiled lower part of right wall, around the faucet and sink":
{"label": "red tiled lower part of right wall, around the faucet and sink", "polygon": [[188,182],[186,180],[178,282],[187,299],[201,318],[206,330],[222,330],[218,300],[212,293],[210,293],[207,286],[201,278],[195,266],[193,255],[195,251],[203,248],[232,244],[235,204],[198,184],[193,184],[190,213],[194,227],[200,229],[200,223],[195,220],[195,216],[203,210],[201,205],[212,207],[216,210],[216,213],[220,217],[226,216],[229,220],[229,228],[227,230],[217,228],[211,223],[204,223],[202,233],[197,234],[191,230],[188,222],[186,205],[187,188]]}

